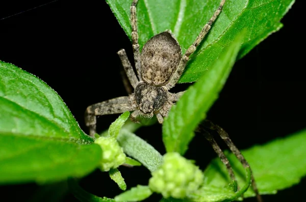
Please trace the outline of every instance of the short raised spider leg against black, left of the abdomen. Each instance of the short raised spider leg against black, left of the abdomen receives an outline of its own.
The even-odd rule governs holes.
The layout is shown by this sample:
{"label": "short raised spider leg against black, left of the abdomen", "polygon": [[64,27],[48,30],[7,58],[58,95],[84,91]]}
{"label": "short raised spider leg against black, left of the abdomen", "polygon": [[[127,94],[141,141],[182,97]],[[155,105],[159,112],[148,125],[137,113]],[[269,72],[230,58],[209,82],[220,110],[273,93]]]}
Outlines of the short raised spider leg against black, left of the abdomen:
{"label": "short raised spider leg against black, left of the abdomen", "polygon": [[120,60],[121,60],[121,63],[122,63],[122,66],[124,68],[127,78],[129,79],[131,85],[135,89],[139,81],[129,61],[129,58],[127,58],[125,50],[121,49],[117,52],[117,54],[120,57]]}

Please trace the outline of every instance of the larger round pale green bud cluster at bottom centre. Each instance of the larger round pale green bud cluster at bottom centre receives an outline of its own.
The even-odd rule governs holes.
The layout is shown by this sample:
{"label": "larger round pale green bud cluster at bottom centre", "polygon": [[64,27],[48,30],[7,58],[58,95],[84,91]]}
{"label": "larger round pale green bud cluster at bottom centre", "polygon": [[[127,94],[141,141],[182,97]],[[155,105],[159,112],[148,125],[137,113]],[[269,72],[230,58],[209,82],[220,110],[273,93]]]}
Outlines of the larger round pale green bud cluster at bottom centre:
{"label": "larger round pale green bud cluster at bottom centre", "polygon": [[149,187],[165,198],[185,198],[203,182],[202,171],[178,153],[164,155],[164,163],[152,172]]}

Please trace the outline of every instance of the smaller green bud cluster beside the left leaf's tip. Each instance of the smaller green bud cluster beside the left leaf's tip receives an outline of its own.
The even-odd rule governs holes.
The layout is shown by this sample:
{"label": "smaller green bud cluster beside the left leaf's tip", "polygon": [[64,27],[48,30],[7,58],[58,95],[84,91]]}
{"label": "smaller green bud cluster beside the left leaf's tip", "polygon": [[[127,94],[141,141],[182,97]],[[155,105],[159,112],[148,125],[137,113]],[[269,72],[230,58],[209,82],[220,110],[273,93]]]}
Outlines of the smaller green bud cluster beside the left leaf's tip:
{"label": "smaller green bud cluster beside the left leaf's tip", "polygon": [[94,143],[98,144],[102,149],[102,159],[100,162],[100,169],[102,171],[117,168],[125,162],[126,156],[115,138],[101,136]]}

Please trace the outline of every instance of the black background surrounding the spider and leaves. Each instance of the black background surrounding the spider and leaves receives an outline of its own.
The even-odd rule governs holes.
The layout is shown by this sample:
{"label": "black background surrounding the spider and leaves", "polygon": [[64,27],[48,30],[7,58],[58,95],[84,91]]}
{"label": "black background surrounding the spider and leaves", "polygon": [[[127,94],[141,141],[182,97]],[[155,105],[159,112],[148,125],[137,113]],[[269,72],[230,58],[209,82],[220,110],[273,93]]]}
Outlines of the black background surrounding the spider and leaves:
{"label": "black background surrounding the spider and leaves", "polygon": [[[2,1],[0,19],[47,2]],[[284,27],[235,64],[219,99],[209,111],[208,118],[222,126],[240,149],[306,128],[302,9],[302,2],[297,1],[283,18]],[[126,95],[116,52],[124,48],[132,59],[132,46],[104,1],[59,0],[2,19],[0,41],[0,60],[38,76],[57,91],[84,131],[87,129],[83,114],[88,105]],[[180,84],[176,90],[187,86]],[[107,129],[116,117],[99,118],[98,130]],[[161,126],[143,128],[138,134],[162,154],[165,152]],[[196,136],[186,156],[197,160],[204,169],[216,155],[203,137]],[[120,167],[120,170],[129,188],[146,185],[150,177],[144,168]],[[99,196],[113,197],[120,192],[98,170],[84,178],[81,185]],[[264,199],[296,201],[303,197],[305,185],[302,180],[299,185]],[[12,200],[24,201],[31,199],[37,188],[26,184],[3,186],[0,190],[14,192],[10,195]],[[154,195],[149,200],[157,201],[159,197]],[[64,200],[75,199],[66,195]]]}

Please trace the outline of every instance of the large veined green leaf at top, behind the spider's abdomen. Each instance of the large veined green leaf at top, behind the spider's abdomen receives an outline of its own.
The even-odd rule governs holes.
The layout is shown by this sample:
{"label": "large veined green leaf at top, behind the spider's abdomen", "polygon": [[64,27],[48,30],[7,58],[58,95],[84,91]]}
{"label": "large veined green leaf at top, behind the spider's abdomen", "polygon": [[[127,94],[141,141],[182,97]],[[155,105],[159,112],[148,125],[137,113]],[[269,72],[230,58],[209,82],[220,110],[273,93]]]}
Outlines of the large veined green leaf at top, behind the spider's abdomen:
{"label": "large veined green leaf at top, behind the spider's abdomen", "polygon": [[[152,36],[171,30],[184,53],[194,42],[203,25],[209,21],[220,2],[221,0],[139,0],[137,16],[140,47]],[[107,0],[107,3],[131,39],[132,0]],[[294,0],[227,0],[210,33],[195,54],[191,55],[191,61],[180,82],[196,81],[207,73],[223,49],[231,44],[243,29],[247,35],[243,38],[242,51],[238,57],[244,56],[283,26],[279,21],[293,3]]]}

